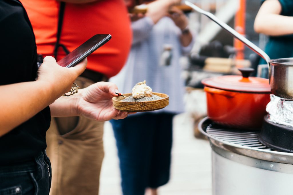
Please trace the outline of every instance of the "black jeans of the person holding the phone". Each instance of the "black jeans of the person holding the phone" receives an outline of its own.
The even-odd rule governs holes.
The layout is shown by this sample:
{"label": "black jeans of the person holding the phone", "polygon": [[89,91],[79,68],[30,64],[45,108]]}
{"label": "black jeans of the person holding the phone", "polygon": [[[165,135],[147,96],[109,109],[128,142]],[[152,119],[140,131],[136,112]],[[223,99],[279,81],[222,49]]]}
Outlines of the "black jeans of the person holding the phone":
{"label": "black jeans of the person holding the phone", "polygon": [[0,195],[48,195],[51,163],[45,151],[25,163],[0,166]]}

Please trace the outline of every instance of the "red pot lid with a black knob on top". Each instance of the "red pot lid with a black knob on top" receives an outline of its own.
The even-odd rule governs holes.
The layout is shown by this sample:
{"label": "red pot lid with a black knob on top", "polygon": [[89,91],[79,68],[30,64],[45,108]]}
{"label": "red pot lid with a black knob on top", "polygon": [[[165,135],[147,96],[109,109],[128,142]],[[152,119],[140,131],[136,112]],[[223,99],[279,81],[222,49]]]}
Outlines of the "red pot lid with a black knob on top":
{"label": "red pot lid with a black knob on top", "polygon": [[228,91],[239,91],[246,93],[271,93],[271,87],[268,79],[260,77],[249,77],[254,69],[241,68],[238,70],[242,73],[242,76],[227,75],[206,78],[202,80],[202,84],[208,87]]}

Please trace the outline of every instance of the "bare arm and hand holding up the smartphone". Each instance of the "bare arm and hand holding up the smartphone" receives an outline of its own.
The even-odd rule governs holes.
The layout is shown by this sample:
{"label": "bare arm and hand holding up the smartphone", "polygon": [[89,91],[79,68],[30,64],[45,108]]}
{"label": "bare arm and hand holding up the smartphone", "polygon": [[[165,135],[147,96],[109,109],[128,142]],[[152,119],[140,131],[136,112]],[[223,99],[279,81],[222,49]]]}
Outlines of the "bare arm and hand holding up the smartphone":
{"label": "bare arm and hand holding up the smartphone", "polygon": [[86,61],[70,69],[59,66],[53,57],[44,58],[38,79],[1,85],[0,136],[27,121],[62,94],[86,68]]}

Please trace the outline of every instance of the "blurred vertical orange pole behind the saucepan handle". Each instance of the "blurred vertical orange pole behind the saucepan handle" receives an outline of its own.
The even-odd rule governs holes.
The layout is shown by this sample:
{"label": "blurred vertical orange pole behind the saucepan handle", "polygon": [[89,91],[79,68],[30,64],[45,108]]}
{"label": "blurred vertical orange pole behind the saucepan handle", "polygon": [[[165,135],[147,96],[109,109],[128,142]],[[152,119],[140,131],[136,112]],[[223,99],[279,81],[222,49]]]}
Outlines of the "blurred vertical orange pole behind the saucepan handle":
{"label": "blurred vertical orange pole behind the saucepan handle", "polygon": [[[239,10],[235,15],[235,30],[245,36],[245,13],[246,0],[239,0]],[[234,39],[234,47],[236,49],[236,59],[244,59],[244,44],[238,39]],[[237,65],[237,64],[236,64]]]}

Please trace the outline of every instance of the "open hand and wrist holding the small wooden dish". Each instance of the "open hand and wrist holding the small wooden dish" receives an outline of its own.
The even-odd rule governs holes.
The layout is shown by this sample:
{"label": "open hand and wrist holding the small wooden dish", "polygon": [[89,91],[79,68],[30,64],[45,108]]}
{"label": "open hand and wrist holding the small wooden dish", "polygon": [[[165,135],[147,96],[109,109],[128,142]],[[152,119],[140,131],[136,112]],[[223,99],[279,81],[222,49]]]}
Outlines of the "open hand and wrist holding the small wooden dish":
{"label": "open hand and wrist holding the small wooden dish", "polygon": [[60,97],[50,105],[53,117],[85,116],[89,119],[106,121],[123,119],[127,112],[121,112],[113,107],[112,98],[119,93],[117,86],[109,82],[98,82],[79,90],[69,97]]}

